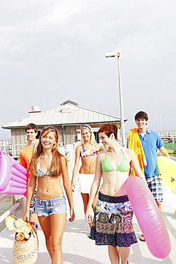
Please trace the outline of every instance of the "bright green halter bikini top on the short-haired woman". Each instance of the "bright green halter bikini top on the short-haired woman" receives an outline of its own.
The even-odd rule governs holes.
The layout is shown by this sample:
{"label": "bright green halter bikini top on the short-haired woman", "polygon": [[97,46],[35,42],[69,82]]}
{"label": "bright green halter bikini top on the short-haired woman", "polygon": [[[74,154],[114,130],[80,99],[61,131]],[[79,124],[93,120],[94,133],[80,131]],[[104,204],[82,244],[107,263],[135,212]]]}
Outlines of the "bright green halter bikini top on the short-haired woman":
{"label": "bright green halter bikini top on the short-haired woman", "polygon": [[[121,151],[123,153],[123,149],[121,148]],[[103,172],[108,172],[108,171],[121,171],[121,172],[128,172],[130,171],[130,163],[128,161],[128,159],[126,158],[126,156],[123,153],[123,159],[120,162],[118,168],[113,168],[113,166],[110,164],[110,161],[108,160],[108,156],[107,156],[108,151],[105,154],[105,158],[103,158],[103,161],[101,163],[101,170]]]}

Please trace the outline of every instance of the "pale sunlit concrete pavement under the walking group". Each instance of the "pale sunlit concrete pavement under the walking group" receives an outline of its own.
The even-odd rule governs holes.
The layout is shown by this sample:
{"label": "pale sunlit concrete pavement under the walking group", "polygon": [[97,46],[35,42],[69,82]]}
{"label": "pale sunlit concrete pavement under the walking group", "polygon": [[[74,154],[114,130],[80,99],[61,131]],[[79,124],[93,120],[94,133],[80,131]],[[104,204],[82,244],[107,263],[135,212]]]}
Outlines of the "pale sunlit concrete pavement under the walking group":
{"label": "pale sunlit concrete pavement under the walking group", "polygon": [[[133,225],[138,243],[130,248],[129,264],[176,264],[176,194],[164,186],[164,201],[162,203],[162,217],[165,220],[170,235],[172,249],[167,258],[155,258],[147,248],[145,242],[141,242],[140,227],[135,216]],[[94,240],[88,238],[89,226],[83,213],[83,203],[80,193],[73,193],[76,220],[66,222],[63,235],[63,263],[64,264],[110,264],[108,247],[95,245]],[[68,215],[69,216],[69,215]],[[39,252],[36,264],[49,264],[51,260],[46,250],[45,239],[42,230],[38,229]],[[14,233],[6,228],[0,233],[0,264],[13,263],[12,248],[14,245]],[[24,263],[25,264],[25,263]]]}

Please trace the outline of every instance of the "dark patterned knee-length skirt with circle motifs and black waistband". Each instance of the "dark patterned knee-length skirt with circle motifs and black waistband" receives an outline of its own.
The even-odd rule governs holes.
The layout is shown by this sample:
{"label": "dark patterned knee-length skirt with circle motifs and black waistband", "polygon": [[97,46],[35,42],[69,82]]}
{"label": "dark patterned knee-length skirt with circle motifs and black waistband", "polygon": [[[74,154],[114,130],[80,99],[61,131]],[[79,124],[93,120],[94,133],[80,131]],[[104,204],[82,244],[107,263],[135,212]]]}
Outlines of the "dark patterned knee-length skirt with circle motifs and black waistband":
{"label": "dark patterned knee-length skirt with circle motifs and black waistband", "polygon": [[133,208],[128,196],[98,193],[90,238],[96,245],[129,247],[137,243],[133,230]]}

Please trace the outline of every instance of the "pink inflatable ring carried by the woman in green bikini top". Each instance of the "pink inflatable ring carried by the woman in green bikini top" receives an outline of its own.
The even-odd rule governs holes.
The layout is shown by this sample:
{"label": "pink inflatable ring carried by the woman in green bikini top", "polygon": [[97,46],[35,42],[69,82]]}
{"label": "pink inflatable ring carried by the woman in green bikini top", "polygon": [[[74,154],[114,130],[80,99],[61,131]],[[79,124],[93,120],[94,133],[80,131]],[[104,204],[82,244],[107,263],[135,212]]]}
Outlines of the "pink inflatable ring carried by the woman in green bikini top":
{"label": "pink inflatable ring carried by the woman in green bikini top", "polygon": [[171,250],[170,237],[150,189],[141,178],[130,176],[126,190],[147,247],[156,258],[166,258]]}

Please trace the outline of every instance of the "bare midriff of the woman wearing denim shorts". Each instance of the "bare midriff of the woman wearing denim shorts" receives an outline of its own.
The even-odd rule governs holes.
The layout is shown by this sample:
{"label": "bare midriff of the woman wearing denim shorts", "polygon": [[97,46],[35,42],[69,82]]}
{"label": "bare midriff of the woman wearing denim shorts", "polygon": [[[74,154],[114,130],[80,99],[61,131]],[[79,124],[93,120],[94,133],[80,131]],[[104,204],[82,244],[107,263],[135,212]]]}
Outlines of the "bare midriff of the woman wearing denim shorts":
{"label": "bare midriff of the woman wearing denim shorts", "polygon": [[61,177],[43,176],[38,178],[36,198],[40,200],[51,200],[60,196],[63,196]]}

